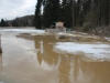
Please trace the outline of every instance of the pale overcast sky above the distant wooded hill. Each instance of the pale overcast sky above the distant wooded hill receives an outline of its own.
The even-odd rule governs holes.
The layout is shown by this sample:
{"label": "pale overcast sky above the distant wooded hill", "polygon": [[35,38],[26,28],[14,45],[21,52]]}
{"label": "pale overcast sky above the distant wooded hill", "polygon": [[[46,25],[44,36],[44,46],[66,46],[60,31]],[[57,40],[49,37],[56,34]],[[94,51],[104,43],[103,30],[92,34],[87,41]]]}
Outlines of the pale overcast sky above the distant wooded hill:
{"label": "pale overcast sky above the distant wooded hill", "polygon": [[34,14],[36,0],[0,0],[0,19]]}

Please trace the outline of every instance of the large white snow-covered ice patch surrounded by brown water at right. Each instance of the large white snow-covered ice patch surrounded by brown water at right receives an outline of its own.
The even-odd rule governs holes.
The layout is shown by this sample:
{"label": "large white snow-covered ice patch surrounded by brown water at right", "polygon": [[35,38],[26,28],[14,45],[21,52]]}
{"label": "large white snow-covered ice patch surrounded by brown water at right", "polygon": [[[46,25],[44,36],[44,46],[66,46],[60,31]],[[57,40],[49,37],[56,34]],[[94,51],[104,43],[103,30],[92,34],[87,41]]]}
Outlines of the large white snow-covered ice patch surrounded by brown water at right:
{"label": "large white snow-covered ice patch surrounded by brown water at right", "polygon": [[75,42],[57,42],[55,49],[66,51],[67,53],[84,52],[88,58],[110,59],[110,44],[82,44]]}

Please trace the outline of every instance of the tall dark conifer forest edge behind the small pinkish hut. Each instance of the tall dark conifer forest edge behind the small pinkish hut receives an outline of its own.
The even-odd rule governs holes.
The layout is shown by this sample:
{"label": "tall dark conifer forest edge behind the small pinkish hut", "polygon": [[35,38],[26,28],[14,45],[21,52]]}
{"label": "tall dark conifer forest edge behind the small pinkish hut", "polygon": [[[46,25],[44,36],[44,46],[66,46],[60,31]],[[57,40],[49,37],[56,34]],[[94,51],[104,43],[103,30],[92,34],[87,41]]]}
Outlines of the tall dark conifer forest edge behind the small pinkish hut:
{"label": "tall dark conifer forest edge behind the small pinkish hut", "polygon": [[37,29],[56,21],[67,28],[106,27],[110,24],[110,0],[37,0],[34,18]]}

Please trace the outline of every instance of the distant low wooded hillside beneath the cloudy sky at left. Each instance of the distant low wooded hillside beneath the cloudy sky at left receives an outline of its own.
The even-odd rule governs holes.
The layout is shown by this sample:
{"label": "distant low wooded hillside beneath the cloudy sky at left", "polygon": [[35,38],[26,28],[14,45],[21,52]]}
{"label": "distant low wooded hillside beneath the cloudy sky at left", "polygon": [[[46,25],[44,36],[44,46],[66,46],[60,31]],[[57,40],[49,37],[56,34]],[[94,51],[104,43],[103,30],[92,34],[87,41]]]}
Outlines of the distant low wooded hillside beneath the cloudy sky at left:
{"label": "distant low wooded hillside beneath the cloudy sky at left", "polygon": [[15,18],[14,20],[1,19],[0,27],[34,27],[34,15]]}

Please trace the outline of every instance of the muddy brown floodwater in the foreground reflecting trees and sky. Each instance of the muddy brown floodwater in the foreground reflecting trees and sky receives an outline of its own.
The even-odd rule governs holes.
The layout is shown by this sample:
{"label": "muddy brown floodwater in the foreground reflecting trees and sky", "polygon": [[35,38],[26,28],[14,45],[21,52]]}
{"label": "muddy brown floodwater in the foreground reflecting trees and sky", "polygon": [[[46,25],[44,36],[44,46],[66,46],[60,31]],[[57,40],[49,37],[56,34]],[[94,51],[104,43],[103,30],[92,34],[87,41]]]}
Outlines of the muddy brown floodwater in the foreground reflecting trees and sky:
{"label": "muddy brown floodwater in the foreground reflecting trees and sky", "polygon": [[110,83],[110,62],[87,62],[80,55],[53,51],[61,41],[1,33],[0,83]]}

